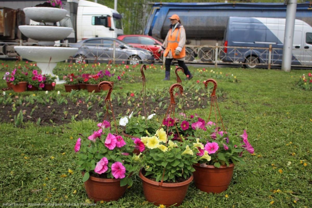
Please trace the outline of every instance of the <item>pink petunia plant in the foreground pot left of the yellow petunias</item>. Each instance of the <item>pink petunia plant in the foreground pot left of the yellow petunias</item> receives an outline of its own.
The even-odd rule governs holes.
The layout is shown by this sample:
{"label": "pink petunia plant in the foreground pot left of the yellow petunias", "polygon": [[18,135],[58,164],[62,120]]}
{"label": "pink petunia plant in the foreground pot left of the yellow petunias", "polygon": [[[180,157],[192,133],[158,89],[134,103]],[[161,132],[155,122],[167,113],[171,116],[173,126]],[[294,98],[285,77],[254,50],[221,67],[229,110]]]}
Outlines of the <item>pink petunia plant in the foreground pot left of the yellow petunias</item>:
{"label": "pink petunia plant in the foreground pot left of the yellow petunias", "polygon": [[87,181],[91,175],[121,179],[120,186],[131,186],[133,180],[130,176],[139,168],[137,156],[132,153],[133,141],[111,133],[108,121],[97,126],[98,130],[87,138],[78,138],[74,147],[75,152],[78,152],[78,170],[84,172],[82,181]]}

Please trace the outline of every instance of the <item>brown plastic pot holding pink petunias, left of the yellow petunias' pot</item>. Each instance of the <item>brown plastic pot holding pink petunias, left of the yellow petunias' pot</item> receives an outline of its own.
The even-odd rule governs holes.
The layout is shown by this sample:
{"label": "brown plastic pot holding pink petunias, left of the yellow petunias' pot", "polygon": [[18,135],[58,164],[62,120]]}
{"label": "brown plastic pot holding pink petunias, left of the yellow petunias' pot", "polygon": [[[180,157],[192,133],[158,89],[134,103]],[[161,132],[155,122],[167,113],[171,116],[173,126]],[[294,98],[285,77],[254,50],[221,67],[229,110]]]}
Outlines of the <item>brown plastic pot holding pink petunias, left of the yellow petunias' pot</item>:
{"label": "brown plastic pot holding pink petunias, left of the yellow petunias' pot", "polygon": [[[85,172],[81,172],[85,175]],[[116,201],[127,189],[127,186],[120,186],[120,179],[98,178],[90,176],[85,181],[85,191],[90,199],[97,201]]]}

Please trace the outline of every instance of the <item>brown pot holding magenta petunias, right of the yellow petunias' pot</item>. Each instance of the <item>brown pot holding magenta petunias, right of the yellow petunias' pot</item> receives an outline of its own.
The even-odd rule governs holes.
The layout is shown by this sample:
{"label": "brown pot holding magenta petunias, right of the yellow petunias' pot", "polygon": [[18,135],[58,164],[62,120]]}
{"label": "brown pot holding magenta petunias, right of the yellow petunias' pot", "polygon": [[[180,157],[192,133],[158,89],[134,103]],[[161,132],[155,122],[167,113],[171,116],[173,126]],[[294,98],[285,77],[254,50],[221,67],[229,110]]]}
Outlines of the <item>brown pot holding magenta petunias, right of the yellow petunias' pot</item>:
{"label": "brown pot holding magenta petunias, right of the yellow petunias' pot", "polygon": [[201,191],[221,193],[227,190],[233,176],[234,164],[229,167],[222,165],[217,168],[213,165],[200,166],[194,164],[195,172],[193,172],[195,186]]}

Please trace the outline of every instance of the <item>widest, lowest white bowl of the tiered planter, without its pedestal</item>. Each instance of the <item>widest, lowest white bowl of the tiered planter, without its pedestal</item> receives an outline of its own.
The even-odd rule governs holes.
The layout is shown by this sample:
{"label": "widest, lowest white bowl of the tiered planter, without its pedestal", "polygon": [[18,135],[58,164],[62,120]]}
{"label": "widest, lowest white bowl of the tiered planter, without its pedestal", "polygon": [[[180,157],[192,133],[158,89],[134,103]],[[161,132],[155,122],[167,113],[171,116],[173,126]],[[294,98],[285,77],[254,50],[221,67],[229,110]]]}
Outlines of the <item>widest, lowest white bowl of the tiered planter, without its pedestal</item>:
{"label": "widest, lowest white bowl of the tiered planter, without its pedestal", "polygon": [[78,48],[54,46],[14,46],[15,51],[24,59],[37,62],[59,62],[73,56]]}

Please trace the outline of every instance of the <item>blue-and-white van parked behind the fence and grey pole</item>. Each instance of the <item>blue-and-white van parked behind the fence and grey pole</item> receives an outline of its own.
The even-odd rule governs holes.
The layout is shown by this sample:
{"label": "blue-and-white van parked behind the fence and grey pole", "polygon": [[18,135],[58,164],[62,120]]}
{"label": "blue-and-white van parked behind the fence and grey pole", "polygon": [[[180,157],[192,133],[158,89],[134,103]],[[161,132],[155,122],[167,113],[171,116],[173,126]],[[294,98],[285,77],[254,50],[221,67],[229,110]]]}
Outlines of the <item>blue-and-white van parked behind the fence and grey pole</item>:
{"label": "blue-and-white van parked behind the fence and grey pole", "polygon": [[[272,45],[272,63],[281,64],[285,35],[283,18],[229,17],[224,35],[224,46],[266,47]],[[279,50],[280,48],[280,50]],[[254,68],[255,63],[268,63],[268,53],[261,49],[225,48],[220,53],[225,62],[242,62]],[[312,65],[312,27],[295,20],[292,65]]]}

